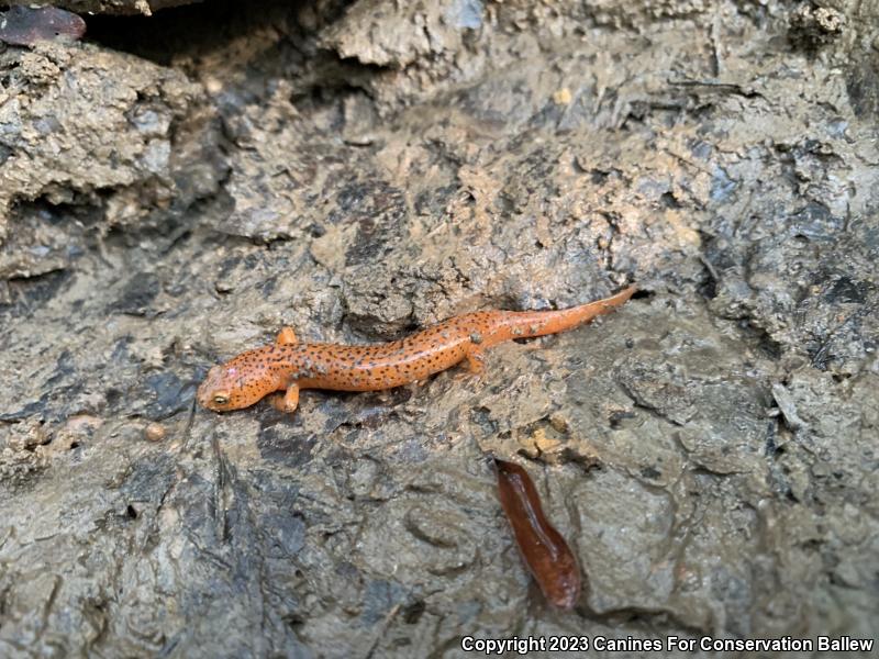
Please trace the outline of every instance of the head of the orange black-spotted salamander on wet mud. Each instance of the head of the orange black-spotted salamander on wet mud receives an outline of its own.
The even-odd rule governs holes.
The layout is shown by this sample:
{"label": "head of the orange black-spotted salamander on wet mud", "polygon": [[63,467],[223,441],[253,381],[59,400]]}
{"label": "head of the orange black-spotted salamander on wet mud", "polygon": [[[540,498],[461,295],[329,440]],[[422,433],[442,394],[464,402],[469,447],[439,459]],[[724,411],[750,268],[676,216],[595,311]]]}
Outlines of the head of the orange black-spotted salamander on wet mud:
{"label": "head of the orange black-spotted salamander on wet mud", "polygon": [[262,351],[249,350],[211,368],[196,394],[199,403],[214,412],[241,410],[281,389],[277,372],[268,368]]}

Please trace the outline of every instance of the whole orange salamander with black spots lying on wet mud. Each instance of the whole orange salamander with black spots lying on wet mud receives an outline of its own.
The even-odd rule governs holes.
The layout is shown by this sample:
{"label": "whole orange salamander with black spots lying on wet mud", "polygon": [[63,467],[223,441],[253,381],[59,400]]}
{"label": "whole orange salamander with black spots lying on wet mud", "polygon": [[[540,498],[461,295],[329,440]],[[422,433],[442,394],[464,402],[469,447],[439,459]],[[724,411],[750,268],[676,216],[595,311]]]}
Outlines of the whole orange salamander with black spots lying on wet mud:
{"label": "whole orange salamander with black spots lying on wet mud", "polygon": [[298,343],[293,331],[285,327],[275,344],[214,366],[199,387],[197,398],[209,410],[226,412],[247,407],[269,393],[283,390],[278,406],[293,412],[300,389],[391,389],[422,380],[465,359],[470,371],[481,376],[486,348],[514,338],[572,330],[620,306],[634,292],[635,287],[628,287],[604,300],[558,311],[477,311],[378,345]]}

